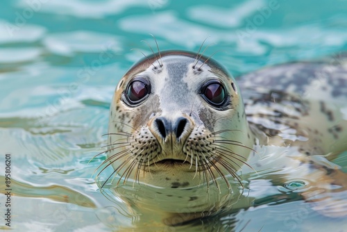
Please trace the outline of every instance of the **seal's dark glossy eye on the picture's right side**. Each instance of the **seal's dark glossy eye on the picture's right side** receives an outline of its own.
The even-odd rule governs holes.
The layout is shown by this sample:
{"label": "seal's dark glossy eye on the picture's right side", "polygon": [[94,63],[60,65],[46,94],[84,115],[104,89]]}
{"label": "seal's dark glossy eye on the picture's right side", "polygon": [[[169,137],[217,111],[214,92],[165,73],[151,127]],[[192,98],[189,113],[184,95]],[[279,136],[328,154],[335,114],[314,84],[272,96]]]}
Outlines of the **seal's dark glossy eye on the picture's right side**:
{"label": "seal's dark glossy eye on the picture's right side", "polygon": [[226,90],[218,82],[207,83],[203,88],[203,97],[214,106],[221,106],[226,100]]}

